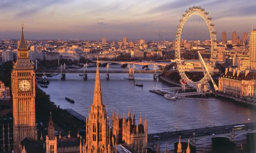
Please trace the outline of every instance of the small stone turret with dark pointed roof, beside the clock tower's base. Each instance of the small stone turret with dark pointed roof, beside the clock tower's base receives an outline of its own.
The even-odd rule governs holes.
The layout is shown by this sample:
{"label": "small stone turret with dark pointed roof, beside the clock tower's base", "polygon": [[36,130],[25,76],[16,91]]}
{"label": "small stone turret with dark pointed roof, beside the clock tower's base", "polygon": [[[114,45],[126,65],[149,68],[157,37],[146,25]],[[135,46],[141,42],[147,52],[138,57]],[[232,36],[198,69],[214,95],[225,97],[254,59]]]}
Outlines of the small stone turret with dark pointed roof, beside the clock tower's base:
{"label": "small stone turret with dark pointed roof, beside the clock tower's base", "polygon": [[48,135],[46,136],[46,153],[57,153],[57,136],[54,133],[52,114],[49,119]]}

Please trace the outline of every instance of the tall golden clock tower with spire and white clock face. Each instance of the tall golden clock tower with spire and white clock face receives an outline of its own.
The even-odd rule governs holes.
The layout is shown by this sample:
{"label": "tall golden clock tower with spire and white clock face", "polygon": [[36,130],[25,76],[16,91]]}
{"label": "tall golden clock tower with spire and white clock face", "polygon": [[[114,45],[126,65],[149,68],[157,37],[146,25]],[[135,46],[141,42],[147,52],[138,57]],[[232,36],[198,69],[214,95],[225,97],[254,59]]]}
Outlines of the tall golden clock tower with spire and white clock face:
{"label": "tall golden clock tower with spire and white clock face", "polygon": [[12,68],[14,153],[21,153],[20,142],[25,138],[37,140],[35,125],[35,71],[29,60],[24,34],[18,43],[17,61]]}

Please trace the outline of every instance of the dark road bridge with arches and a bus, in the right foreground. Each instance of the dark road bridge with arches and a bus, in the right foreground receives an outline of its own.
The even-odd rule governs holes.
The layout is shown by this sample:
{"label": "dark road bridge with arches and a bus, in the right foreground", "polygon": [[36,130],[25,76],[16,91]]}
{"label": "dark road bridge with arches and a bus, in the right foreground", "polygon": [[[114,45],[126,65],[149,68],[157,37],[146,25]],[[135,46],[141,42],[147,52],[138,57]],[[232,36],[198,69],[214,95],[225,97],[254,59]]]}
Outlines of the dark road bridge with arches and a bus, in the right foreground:
{"label": "dark road bridge with arches and a bus, in the right foreground", "polygon": [[195,147],[198,142],[211,140],[213,137],[223,137],[231,142],[235,142],[239,136],[246,135],[248,133],[256,132],[256,123],[239,124],[245,125],[244,130],[233,131],[235,125],[222,125],[214,127],[205,127],[191,130],[177,130],[163,133],[155,133],[148,135],[148,147],[156,147],[156,144],[162,146],[173,146],[174,142],[179,142],[179,136],[181,136],[181,142],[188,142]]}

